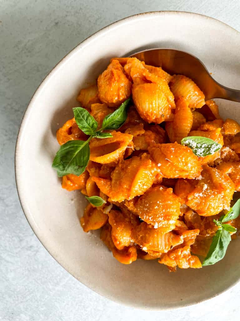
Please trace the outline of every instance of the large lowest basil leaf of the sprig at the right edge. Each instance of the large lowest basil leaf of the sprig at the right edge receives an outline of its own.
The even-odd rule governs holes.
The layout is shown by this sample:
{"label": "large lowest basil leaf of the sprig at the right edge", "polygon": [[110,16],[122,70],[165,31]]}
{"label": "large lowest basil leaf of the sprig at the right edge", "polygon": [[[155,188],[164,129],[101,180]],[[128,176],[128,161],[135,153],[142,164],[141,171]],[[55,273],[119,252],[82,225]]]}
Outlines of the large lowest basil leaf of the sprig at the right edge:
{"label": "large lowest basil leaf of the sprig at the right edge", "polygon": [[220,227],[212,238],[212,244],[202,266],[212,265],[220,261],[225,256],[230,241],[229,232]]}

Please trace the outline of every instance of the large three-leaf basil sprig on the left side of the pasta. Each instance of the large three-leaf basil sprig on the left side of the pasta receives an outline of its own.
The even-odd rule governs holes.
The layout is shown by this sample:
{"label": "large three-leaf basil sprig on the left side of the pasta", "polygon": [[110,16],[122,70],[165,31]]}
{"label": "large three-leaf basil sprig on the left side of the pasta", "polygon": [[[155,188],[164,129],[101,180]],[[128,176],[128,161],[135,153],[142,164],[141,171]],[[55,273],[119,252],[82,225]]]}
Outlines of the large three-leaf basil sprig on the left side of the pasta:
{"label": "large three-leaf basil sprig on the left side of the pasta", "polygon": [[103,130],[118,129],[123,125],[127,118],[127,108],[130,101],[131,98],[125,100],[119,108],[107,115],[98,131],[96,130],[98,123],[86,109],[82,107],[73,108],[77,126],[90,137],[86,141],[68,141],[60,147],[52,163],[52,167],[57,170],[59,177],[68,174],[79,176],[84,172],[90,157],[90,140],[93,137],[112,137],[111,133],[104,133]]}

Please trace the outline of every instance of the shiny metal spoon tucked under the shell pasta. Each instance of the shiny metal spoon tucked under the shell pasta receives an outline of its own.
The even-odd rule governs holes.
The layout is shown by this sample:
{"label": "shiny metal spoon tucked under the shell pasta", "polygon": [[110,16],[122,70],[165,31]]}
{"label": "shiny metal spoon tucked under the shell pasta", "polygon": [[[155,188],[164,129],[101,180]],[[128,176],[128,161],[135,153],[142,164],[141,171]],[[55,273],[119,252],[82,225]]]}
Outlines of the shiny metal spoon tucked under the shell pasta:
{"label": "shiny metal spoon tucked under the shell pasta", "polygon": [[169,74],[183,74],[191,78],[203,91],[205,100],[222,98],[240,102],[240,90],[216,82],[204,64],[187,52],[175,49],[152,49],[138,52],[131,57],[136,57],[147,65],[162,67]]}

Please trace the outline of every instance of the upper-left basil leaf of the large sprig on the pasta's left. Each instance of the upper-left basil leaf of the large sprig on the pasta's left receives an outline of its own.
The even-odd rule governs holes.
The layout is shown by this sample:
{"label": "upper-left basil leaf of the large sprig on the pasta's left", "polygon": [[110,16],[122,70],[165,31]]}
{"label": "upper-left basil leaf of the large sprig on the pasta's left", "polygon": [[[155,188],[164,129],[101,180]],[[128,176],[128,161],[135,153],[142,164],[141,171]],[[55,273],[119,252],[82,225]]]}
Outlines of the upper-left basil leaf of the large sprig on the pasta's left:
{"label": "upper-left basil leaf of the large sprig on the pasta's left", "polygon": [[89,112],[82,107],[73,108],[73,113],[77,126],[86,135],[94,135],[98,127],[98,123],[92,117],[92,115],[90,115]]}

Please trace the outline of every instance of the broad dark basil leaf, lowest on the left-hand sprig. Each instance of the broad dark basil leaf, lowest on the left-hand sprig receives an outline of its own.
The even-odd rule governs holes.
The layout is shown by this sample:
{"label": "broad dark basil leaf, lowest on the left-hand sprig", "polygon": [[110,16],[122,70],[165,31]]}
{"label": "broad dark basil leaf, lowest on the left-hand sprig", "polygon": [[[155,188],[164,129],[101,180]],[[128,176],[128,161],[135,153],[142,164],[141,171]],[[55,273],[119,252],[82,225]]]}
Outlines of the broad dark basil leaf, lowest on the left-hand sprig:
{"label": "broad dark basil leaf, lowest on the left-hand sprig", "polygon": [[52,167],[57,170],[58,176],[68,174],[81,175],[89,161],[90,148],[88,141],[68,141],[57,152]]}

